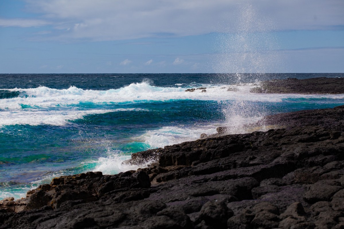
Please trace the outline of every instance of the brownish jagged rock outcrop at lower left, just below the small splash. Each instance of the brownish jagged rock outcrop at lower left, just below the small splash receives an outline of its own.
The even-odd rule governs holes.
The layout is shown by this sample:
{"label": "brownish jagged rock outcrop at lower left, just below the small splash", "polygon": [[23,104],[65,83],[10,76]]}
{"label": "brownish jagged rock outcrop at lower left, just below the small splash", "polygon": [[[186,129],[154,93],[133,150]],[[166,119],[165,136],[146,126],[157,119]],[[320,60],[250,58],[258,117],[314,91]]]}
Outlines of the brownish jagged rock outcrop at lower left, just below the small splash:
{"label": "brownish jagged rock outcrop at lower left, just below the small splash", "polygon": [[143,171],[128,171],[117,175],[103,175],[101,172],[87,172],[54,178],[51,184],[44,184],[29,191],[25,209],[49,205],[60,207],[67,201],[96,201],[108,192],[122,188],[150,187],[149,176]]}

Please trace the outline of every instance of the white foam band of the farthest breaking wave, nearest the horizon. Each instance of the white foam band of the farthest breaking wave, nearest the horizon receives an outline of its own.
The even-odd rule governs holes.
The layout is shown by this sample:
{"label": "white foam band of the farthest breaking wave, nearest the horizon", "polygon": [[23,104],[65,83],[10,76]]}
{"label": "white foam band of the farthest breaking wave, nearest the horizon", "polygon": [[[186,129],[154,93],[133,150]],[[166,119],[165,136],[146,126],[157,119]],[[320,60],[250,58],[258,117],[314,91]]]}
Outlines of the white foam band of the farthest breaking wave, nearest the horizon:
{"label": "white foam band of the farthest breaking wave, nearest the horizon", "polygon": [[[196,84],[196,83],[194,83]],[[191,84],[192,85],[192,84]],[[94,104],[111,104],[123,102],[139,101],[167,101],[167,100],[246,100],[246,101],[266,101],[281,102],[287,98],[343,98],[340,95],[298,95],[298,94],[255,94],[250,93],[250,89],[257,84],[238,85],[195,85],[196,87],[206,87],[206,93],[202,90],[185,92],[186,88],[164,88],[151,86],[146,82],[132,83],[120,89],[110,89],[106,91],[83,90],[76,87],[69,89],[50,89],[39,87],[33,89],[6,89],[13,91],[23,91],[29,96],[26,98],[17,97],[0,100],[2,110],[22,110],[25,108],[49,108],[65,107],[77,105],[80,102],[91,102]],[[228,88],[236,88],[237,91],[227,91]],[[191,88],[191,87],[189,87]]]}

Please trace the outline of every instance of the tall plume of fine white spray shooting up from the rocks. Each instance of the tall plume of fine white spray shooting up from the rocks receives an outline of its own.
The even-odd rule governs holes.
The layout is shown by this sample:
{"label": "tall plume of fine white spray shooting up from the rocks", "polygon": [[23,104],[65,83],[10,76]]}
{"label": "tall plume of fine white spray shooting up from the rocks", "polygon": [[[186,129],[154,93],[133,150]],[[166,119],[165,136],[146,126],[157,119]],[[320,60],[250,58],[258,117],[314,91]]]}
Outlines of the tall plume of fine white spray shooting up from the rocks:
{"label": "tall plume of fine white spray shooting up from the rocks", "polygon": [[[223,82],[235,82],[243,86],[247,82],[266,80],[265,73],[280,69],[277,41],[272,35],[272,20],[260,15],[251,4],[239,4],[236,11],[237,27],[227,28],[219,37],[219,54],[215,60],[215,72]],[[275,70],[276,71],[276,70]],[[250,93],[239,90],[237,93]],[[264,116],[264,108],[239,98],[223,105],[223,113],[229,133],[247,132],[243,125],[258,121]]]}

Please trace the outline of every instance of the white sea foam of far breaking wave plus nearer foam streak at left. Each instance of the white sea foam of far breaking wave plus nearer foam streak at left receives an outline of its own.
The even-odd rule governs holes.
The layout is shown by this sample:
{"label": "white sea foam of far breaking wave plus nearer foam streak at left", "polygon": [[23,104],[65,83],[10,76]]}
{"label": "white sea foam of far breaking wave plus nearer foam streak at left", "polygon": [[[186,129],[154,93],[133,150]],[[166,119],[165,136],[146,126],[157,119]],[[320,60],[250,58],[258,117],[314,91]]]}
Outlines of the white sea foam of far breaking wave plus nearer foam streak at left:
{"label": "white sea foam of far breaking wave plus nearer foam streak at left", "polygon": [[[258,84],[259,85],[259,84]],[[147,82],[131,83],[126,87],[110,90],[83,90],[76,87],[52,89],[47,87],[29,89],[6,89],[19,91],[26,96],[1,99],[0,125],[56,125],[62,126],[68,121],[83,118],[89,114],[102,114],[120,111],[101,105],[120,103],[149,103],[169,100],[207,100],[207,101],[251,101],[283,102],[292,100],[330,100],[344,99],[344,94],[302,95],[302,94],[265,94],[250,93],[257,84],[205,85],[191,83],[188,88],[207,87],[206,92],[185,91],[185,87],[155,87]],[[5,89],[0,89],[5,90]],[[86,105],[85,105],[86,104]],[[90,104],[90,106],[87,106]],[[93,108],[92,108],[93,105]],[[231,105],[232,106],[232,105]],[[226,108],[227,109],[227,108]],[[129,111],[129,110],[128,110]],[[227,112],[228,113],[228,112]],[[167,141],[166,139],[164,141]]]}

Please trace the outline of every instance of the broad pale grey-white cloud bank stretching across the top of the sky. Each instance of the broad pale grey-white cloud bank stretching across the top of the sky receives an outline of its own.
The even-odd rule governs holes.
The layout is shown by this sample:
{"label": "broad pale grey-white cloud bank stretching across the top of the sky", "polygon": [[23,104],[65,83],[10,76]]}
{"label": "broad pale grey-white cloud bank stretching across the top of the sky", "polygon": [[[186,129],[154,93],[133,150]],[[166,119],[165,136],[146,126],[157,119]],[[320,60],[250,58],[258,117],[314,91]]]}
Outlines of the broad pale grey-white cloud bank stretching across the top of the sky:
{"label": "broad pale grey-white cloud bank stretching across the top of the sky", "polygon": [[[58,39],[109,41],[188,36],[250,28],[319,30],[344,25],[343,0],[26,0],[27,9],[54,22]],[[245,8],[251,4],[251,9]],[[0,26],[43,26],[45,20],[1,19]],[[246,23],[246,26],[243,24]],[[248,26],[247,26],[248,25]],[[261,27],[264,26],[260,26]]]}

